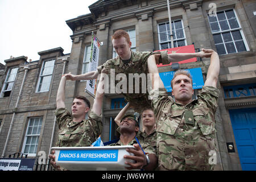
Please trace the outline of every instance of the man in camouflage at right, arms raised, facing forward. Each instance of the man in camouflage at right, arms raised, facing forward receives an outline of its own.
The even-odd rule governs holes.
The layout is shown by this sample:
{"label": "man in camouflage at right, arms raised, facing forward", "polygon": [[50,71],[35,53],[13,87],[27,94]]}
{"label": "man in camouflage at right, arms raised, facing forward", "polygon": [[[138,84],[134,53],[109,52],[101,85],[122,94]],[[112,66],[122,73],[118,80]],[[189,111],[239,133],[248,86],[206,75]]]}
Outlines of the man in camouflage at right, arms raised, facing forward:
{"label": "man in camouflage at right, arms raised, facing forward", "polygon": [[[159,170],[212,170],[210,151],[216,152],[214,113],[218,106],[217,87],[220,60],[211,54],[207,80],[196,100],[192,101],[192,78],[177,71],[171,81],[172,95],[168,97],[159,74],[152,77],[152,106],[156,117],[157,155]],[[150,73],[158,73],[154,60],[149,60]],[[154,84],[155,83],[155,84]],[[159,85],[159,88],[158,86]]]}

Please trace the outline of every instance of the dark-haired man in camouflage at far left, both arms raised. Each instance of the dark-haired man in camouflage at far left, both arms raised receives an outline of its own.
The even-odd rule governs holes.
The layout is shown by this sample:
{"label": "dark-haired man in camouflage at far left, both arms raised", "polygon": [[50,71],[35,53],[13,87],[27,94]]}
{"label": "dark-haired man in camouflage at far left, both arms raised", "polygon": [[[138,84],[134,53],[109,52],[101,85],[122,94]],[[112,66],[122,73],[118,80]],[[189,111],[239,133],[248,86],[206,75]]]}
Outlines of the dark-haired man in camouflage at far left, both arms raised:
{"label": "dark-haired man in camouflage at far left, both arms raised", "polygon": [[[102,101],[104,98],[104,80],[100,77],[94,104],[88,119],[86,113],[90,109],[90,102],[83,96],[76,96],[72,103],[72,115],[65,108],[65,83],[67,77],[63,75],[60,80],[56,97],[56,122],[59,126],[57,147],[86,147],[90,146],[102,131]],[[51,152],[51,164],[59,169],[55,162],[55,151]]]}

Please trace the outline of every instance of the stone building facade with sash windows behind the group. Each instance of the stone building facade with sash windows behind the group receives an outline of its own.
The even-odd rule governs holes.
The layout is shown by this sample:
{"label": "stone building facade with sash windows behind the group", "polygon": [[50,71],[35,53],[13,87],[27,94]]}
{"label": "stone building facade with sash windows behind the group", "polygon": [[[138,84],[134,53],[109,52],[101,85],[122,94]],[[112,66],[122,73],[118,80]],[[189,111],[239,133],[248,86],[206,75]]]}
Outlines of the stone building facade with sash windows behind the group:
{"label": "stone building facade with sash windows behind the group", "polygon": [[[255,2],[246,0],[170,1],[175,47],[193,44],[197,49],[214,49],[220,56],[216,170],[256,169],[255,6]],[[217,17],[210,16],[214,7]],[[61,75],[88,71],[92,32],[102,43],[99,65],[115,56],[111,36],[118,29],[129,32],[133,51],[170,48],[167,1],[97,1],[89,9],[90,14],[66,21],[73,31],[68,55],[59,47],[38,52],[40,59],[30,63],[25,56],[5,60],[0,70],[2,157],[15,152],[35,157],[45,151],[48,155],[57,139],[53,121]],[[205,80],[208,65],[209,59],[202,59],[179,64],[179,68],[201,68]],[[160,72],[174,70],[172,66],[159,68]],[[76,95],[86,96],[93,103],[85,87],[86,81],[67,81],[68,109]],[[105,94],[104,142],[117,137],[114,117],[124,105],[120,94]]]}

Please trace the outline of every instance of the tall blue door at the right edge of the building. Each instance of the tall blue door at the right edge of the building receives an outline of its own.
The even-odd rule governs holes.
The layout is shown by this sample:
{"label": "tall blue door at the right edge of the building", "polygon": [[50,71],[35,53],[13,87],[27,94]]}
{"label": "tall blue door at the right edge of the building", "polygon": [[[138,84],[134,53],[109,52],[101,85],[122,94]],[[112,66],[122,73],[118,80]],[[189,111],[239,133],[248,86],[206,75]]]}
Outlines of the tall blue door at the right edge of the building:
{"label": "tall blue door at the right edge of the building", "polygon": [[242,170],[256,170],[256,108],[229,110]]}

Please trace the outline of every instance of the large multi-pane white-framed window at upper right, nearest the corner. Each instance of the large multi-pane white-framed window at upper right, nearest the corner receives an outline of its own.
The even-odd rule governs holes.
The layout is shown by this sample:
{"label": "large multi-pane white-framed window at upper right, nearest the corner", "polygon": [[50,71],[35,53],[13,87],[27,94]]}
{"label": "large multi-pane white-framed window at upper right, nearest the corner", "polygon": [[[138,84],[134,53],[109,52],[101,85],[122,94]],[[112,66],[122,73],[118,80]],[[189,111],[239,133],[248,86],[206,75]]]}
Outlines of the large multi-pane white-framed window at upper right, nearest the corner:
{"label": "large multi-pane white-framed window at upper right, nearest the corner", "polygon": [[218,12],[209,16],[214,43],[219,55],[249,51],[235,10]]}

